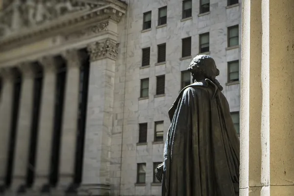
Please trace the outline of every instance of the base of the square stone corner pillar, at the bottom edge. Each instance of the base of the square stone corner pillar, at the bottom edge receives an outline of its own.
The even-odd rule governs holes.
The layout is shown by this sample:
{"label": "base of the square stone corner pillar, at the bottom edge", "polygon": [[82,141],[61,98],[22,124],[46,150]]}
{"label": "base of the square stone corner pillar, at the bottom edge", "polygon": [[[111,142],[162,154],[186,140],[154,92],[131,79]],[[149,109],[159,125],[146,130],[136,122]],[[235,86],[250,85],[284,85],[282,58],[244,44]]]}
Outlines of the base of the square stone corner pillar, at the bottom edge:
{"label": "base of the square stone corner pillar, at the bottom edge", "polygon": [[78,196],[110,196],[109,184],[81,185],[78,189]]}

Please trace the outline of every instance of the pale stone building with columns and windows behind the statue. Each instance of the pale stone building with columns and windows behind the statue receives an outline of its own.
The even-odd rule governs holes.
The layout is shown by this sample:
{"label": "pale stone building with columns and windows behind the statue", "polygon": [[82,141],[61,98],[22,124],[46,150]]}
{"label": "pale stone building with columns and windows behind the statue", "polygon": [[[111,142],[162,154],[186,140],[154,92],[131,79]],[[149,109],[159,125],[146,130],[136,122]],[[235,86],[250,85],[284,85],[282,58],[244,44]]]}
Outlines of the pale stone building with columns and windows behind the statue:
{"label": "pale stone building with columns and windows behind the statue", "polygon": [[238,0],[0,0],[0,194],[159,196],[196,54],[239,133]]}

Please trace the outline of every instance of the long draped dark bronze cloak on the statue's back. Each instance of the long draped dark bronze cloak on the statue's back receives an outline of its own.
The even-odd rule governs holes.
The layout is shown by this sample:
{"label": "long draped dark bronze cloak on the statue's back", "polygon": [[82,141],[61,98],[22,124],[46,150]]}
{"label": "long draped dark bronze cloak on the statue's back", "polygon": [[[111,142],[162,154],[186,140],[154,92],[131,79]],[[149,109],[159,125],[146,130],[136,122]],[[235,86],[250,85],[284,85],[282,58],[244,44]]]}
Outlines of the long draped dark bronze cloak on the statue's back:
{"label": "long draped dark bronze cloak on the statue's back", "polygon": [[240,141],[218,87],[209,79],[187,86],[169,116],[162,195],[239,194]]}

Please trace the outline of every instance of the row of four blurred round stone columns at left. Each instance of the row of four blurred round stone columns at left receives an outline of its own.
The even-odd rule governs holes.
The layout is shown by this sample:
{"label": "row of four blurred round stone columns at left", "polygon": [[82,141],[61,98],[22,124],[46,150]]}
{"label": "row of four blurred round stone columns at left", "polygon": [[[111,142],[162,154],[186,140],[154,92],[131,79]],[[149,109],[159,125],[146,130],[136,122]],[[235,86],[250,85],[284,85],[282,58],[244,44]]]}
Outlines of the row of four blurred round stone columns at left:
{"label": "row of four blurred round stone columns at left", "polygon": [[[69,186],[73,183],[75,163],[75,141],[77,134],[77,113],[79,94],[79,68],[82,58],[78,50],[63,54],[67,61],[66,90],[60,147],[58,186]],[[40,106],[40,118],[36,147],[36,164],[33,190],[41,190],[49,184],[50,156],[52,149],[53,117],[56,88],[56,66],[58,62],[53,56],[39,60],[43,67],[43,89]],[[17,66],[22,73],[17,133],[15,139],[14,165],[11,190],[18,190],[26,183],[28,165],[31,118],[33,109],[34,67],[31,63]],[[8,164],[8,143],[10,136],[14,73],[11,68],[1,69],[2,93],[0,101],[0,185],[4,185]]]}

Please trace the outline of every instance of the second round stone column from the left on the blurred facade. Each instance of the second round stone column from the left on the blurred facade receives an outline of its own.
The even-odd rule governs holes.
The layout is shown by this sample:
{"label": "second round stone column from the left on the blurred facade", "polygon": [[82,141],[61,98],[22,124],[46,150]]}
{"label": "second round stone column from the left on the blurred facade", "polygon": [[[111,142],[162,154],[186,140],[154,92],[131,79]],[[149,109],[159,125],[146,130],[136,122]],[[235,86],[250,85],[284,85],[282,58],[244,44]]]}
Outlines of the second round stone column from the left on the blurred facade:
{"label": "second round stone column from the left on the blurred facade", "polygon": [[23,75],[23,84],[20,98],[20,113],[18,117],[14,165],[12,173],[12,190],[25,190],[26,173],[28,166],[29,142],[31,133],[31,117],[34,88],[34,68],[31,63],[18,66]]}

